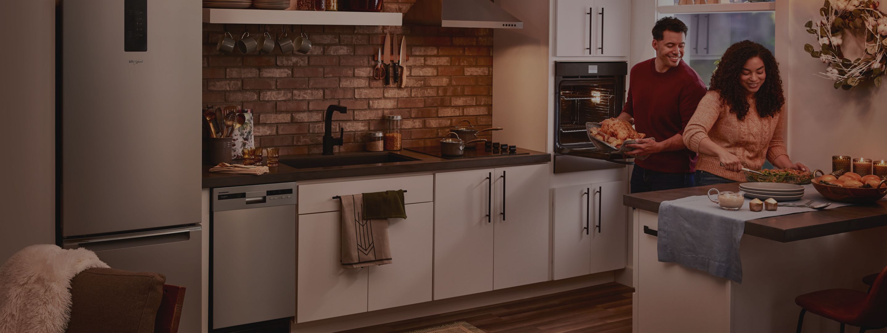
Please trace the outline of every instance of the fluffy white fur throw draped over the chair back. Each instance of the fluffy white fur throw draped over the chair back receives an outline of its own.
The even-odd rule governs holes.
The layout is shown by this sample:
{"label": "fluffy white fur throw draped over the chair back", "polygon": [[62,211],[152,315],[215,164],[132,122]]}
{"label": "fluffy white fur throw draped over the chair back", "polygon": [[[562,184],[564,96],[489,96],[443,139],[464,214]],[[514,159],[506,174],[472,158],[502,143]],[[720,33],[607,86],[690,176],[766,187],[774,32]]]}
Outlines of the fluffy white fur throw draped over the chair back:
{"label": "fluffy white fur throw draped over the chair back", "polygon": [[63,333],[71,316],[71,279],[107,267],[86,249],[37,244],[0,267],[0,333]]}

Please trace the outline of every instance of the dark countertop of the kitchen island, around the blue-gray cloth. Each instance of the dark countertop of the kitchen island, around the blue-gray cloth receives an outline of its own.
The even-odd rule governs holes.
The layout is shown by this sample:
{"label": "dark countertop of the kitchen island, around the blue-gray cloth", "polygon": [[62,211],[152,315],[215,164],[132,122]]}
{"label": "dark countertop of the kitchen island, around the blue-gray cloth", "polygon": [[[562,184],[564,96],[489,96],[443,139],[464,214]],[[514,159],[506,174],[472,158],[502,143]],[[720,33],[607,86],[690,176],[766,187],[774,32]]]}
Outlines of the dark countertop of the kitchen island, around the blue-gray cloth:
{"label": "dark countertop of the kitchen island, around the blue-gray cloth", "polygon": [[[739,191],[740,183],[718,185],[721,191]],[[626,206],[639,210],[659,212],[659,203],[705,195],[712,186],[687,187],[666,191],[625,194]],[[816,210],[771,218],[745,221],[745,234],[778,242],[795,242],[808,238],[842,234],[856,230],[887,226],[887,202],[844,206],[831,210]]]}

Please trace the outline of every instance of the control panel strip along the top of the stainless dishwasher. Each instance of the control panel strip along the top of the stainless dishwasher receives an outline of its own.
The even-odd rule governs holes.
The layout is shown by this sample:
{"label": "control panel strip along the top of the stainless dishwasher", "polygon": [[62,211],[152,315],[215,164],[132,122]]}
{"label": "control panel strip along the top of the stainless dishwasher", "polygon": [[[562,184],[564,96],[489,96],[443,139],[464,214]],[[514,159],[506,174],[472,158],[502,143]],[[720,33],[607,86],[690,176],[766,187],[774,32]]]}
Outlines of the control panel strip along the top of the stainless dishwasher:
{"label": "control panel strip along the top of the stainless dishwasher", "polygon": [[295,204],[295,183],[219,187],[213,189],[212,210],[244,210]]}

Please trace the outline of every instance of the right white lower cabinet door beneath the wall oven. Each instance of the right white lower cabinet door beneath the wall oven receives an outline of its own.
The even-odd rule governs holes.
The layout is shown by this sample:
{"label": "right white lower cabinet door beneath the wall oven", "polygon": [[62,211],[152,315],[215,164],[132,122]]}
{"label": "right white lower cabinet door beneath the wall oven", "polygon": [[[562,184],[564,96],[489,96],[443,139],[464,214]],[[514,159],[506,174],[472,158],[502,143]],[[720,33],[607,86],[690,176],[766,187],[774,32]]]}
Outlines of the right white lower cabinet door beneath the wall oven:
{"label": "right white lower cabinet door beneath the wall oven", "polygon": [[625,267],[628,208],[622,202],[626,192],[625,181],[592,184],[591,273]]}

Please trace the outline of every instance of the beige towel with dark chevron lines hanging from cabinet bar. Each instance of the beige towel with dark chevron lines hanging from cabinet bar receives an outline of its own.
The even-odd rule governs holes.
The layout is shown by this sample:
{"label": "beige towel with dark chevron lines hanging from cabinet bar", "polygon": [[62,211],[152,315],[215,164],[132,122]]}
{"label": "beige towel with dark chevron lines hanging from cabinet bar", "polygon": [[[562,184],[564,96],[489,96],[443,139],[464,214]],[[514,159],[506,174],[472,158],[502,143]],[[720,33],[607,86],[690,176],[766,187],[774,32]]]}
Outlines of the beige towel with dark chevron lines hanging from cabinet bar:
{"label": "beige towel with dark chevron lines hanging from cabinet bar", "polygon": [[365,219],[363,194],[341,195],[341,266],[391,263],[388,219]]}

